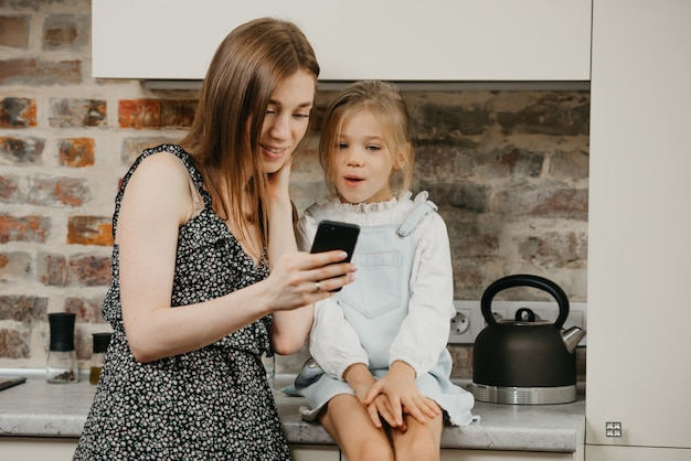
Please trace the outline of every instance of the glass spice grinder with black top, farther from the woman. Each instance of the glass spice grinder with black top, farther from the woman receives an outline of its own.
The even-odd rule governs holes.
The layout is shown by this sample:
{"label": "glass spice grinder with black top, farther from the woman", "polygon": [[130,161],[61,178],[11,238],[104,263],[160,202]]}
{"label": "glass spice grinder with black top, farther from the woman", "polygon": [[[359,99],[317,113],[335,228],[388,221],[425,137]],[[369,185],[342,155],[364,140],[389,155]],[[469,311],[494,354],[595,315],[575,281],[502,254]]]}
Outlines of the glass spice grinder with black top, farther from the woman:
{"label": "glass spice grinder with black top, farther from the woman", "polygon": [[49,383],[70,384],[78,379],[77,355],[74,351],[74,320],[76,314],[47,314],[51,345],[47,352],[45,379]]}

